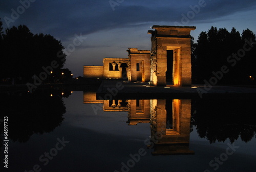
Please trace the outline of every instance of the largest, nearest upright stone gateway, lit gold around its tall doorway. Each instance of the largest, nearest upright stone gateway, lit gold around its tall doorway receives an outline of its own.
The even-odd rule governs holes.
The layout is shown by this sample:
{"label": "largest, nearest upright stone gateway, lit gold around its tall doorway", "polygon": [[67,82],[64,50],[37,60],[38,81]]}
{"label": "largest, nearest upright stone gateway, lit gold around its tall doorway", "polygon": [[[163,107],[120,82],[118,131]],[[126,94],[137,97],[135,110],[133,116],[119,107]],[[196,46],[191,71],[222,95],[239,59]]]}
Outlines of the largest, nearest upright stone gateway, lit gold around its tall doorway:
{"label": "largest, nearest upright stone gateway, lit gold around its tall doorway", "polygon": [[151,85],[191,86],[190,31],[196,27],[153,26],[151,49]]}

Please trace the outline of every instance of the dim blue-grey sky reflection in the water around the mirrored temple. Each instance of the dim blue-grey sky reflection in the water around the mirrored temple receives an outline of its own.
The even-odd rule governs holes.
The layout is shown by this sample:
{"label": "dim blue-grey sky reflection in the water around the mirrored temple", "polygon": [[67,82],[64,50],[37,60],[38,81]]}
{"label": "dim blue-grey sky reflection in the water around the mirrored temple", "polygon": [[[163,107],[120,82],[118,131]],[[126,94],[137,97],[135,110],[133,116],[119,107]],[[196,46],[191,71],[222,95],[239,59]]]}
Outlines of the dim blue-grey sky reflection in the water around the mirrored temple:
{"label": "dim blue-grey sky reflection in the water around the mirrored temple", "polygon": [[[35,164],[42,171],[122,171],[121,163],[126,164],[130,154],[138,154],[140,148],[147,153],[129,171],[215,171],[209,162],[228,147],[228,139],[210,144],[206,138],[199,138],[194,127],[189,149],[195,155],[152,156],[152,150],[144,144],[151,135],[150,123],[127,125],[128,112],[98,111],[95,115],[91,104],[83,104],[83,92],[62,99],[67,111],[63,114],[65,120],[53,132],[33,134],[26,143],[9,142],[11,171],[29,171]],[[70,142],[45,166],[38,158],[62,137]],[[234,145],[239,148],[217,171],[255,171],[255,136],[247,143],[239,138]]]}

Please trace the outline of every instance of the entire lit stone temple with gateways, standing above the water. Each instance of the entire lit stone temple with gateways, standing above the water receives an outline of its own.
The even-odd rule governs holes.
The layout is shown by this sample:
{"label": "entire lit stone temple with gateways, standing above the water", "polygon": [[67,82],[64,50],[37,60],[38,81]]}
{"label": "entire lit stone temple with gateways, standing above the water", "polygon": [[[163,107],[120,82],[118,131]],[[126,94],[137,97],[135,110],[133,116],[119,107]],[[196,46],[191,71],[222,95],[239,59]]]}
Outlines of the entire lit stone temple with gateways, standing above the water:
{"label": "entire lit stone temple with gateways, standing above the water", "polygon": [[129,58],[104,58],[103,66],[84,66],[84,78],[127,79],[155,86],[191,86],[189,26],[153,26],[152,48],[129,48]]}

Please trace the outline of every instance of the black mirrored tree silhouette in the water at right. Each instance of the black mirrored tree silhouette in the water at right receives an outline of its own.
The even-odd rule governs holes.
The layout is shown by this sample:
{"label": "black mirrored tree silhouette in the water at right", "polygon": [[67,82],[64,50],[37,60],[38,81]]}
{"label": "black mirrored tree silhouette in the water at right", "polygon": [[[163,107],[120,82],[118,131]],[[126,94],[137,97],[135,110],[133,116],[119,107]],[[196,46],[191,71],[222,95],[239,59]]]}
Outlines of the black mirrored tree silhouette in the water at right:
{"label": "black mirrored tree silhouette in the water at right", "polygon": [[210,143],[250,141],[256,133],[255,100],[194,100],[191,124]]}

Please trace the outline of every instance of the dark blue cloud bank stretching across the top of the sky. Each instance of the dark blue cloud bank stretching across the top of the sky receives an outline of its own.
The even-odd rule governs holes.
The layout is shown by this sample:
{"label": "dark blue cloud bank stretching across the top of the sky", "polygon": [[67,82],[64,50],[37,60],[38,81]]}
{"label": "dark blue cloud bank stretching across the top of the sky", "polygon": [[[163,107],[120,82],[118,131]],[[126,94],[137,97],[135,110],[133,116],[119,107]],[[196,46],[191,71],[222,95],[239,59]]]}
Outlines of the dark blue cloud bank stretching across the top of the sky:
{"label": "dark blue cloud bank stretching across the top of the sky", "polygon": [[[217,19],[239,11],[253,9],[256,2],[246,1],[205,1],[193,20]],[[109,1],[36,1],[13,23],[25,24],[34,32],[46,32],[65,39],[75,33],[91,34],[115,28],[129,28],[138,23],[180,22],[198,1],[124,1],[112,10]],[[11,9],[20,3],[2,2],[1,17],[10,16]]]}

